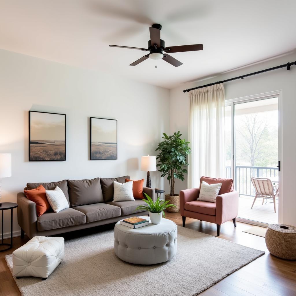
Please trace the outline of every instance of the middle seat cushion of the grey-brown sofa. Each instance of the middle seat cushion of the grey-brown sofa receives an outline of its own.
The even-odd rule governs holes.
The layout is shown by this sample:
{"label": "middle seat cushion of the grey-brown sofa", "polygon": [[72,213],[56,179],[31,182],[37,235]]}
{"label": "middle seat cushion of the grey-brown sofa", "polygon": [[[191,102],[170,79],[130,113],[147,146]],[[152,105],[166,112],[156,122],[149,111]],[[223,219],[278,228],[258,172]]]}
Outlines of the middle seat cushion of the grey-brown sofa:
{"label": "middle seat cushion of the grey-brown sofa", "polygon": [[79,207],[74,207],[74,209],[86,215],[86,223],[119,217],[121,215],[120,207],[105,203],[81,205]]}

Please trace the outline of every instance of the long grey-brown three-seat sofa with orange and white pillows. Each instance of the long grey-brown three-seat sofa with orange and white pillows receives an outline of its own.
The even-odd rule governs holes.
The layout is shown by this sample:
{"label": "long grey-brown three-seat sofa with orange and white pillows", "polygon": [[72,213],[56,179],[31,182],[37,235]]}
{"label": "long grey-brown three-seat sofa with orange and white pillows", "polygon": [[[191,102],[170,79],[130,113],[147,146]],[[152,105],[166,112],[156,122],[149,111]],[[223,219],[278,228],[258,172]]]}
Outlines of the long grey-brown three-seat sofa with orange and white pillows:
{"label": "long grey-brown three-seat sofa with orange and white pillows", "polygon": [[[54,190],[56,186],[59,186],[70,207],[59,213],[50,211],[37,217],[35,202],[30,201],[23,192],[18,193],[17,222],[21,227],[21,237],[24,233],[29,238],[36,235],[50,236],[114,223],[135,215],[147,215],[147,211],[136,211],[139,205],[145,204],[143,200],[112,202],[113,181],[124,183],[125,178],[130,177],[27,183],[27,189],[43,185],[46,190]],[[143,192],[155,201],[155,189],[143,187]]]}

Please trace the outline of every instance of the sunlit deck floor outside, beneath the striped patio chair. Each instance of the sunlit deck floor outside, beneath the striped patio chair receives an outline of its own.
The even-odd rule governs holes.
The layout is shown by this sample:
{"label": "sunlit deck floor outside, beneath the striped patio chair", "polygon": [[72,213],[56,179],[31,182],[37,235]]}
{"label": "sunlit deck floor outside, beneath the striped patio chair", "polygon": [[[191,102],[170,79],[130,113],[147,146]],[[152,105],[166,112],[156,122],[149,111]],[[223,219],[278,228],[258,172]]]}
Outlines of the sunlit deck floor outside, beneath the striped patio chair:
{"label": "sunlit deck floor outside, beneath the striped patio chair", "polygon": [[274,213],[274,204],[272,200],[264,202],[262,205],[262,198],[257,198],[253,208],[251,209],[254,197],[247,197],[241,195],[239,197],[239,218],[249,219],[267,224],[278,223],[279,204],[276,201],[276,213]]}

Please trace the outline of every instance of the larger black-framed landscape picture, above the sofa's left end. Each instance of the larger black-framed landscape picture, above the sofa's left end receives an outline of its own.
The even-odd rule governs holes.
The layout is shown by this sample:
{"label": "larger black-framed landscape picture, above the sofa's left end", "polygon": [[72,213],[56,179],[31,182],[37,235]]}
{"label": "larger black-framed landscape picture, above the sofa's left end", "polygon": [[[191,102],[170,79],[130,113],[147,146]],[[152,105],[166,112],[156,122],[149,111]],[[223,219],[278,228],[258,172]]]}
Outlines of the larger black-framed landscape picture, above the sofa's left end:
{"label": "larger black-framed landscape picture, above the sofa's left end", "polygon": [[29,161],[66,160],[66,114],[29,111]]}

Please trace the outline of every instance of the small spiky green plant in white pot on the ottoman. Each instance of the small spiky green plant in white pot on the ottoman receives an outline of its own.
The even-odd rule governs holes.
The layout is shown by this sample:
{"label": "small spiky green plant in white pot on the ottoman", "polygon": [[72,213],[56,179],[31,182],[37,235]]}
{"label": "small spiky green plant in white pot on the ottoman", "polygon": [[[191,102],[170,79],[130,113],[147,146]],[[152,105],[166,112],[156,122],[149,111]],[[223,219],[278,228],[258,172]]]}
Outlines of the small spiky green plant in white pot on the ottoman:
{"label": "small spiky green plant in white pot on the ottoman", "polygon": [[157,198],[155,202],[153,202],[152,198],[144,193],[147,197],[147,200],[143,199],[147,205],[139,205],[136,210],[147,210],[149,211],[150,220],[153,224],[159,224],[161,222],[162,217],[165,218],[164,210],[169,207],[176,207],[175,205],[169,205],[167,201],[161,200],[160,197]]}

